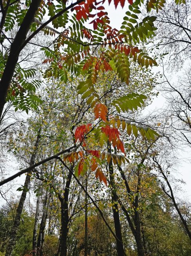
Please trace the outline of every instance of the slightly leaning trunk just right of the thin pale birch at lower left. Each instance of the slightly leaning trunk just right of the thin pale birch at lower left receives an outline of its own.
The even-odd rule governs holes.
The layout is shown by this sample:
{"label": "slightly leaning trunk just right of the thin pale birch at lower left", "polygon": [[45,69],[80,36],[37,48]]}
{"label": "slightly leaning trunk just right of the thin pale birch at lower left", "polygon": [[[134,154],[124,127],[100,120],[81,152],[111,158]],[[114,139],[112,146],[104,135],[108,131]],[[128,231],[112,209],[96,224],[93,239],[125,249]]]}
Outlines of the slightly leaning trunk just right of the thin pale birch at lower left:
{"label": "slightly leaning trunk just right of the thin pale birch at lower left", "polygon": [[39,228],[39,233],[38,233],[38,240],[37,240],[37,245],[36,245],[38,256],[43,255],[44,234],[45,234],[46,220],[47,220],[47,216],[48,216],[49,202],[50,202],[50,193],[48,193],[48,190],[47,190],[46,194],[45,194],[45,198],[44,198],[42,219],[41,219],[41,223],[40,223],[40,228]]}

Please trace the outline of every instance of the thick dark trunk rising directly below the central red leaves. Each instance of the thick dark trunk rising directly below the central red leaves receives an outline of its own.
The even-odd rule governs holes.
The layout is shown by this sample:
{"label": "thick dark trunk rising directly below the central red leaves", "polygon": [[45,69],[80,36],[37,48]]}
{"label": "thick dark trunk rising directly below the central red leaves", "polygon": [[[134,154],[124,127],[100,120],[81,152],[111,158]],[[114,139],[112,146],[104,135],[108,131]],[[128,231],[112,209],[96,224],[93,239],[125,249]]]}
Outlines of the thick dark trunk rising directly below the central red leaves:
{"label": "thick dark trunk rising directly below the central red leaves", "polygon": [[[108,149],[107,152],[111,154],[111,145],[108,143]],[[116,237],[120,241],[116,239],[116,245],[117,245],[117,255],[118,256],[124,256],[126,255],[124,251],[124,245],[122,241],[122,232],[121,232],[121,224],[120,224],[120,218],[119,218],[119,211],[118,211],[118,204],[117,204],[117,195],[115,190],[115,180],[114,180],[114,172],[113,172],[113,164],[112,164],[112,158],[109,162],[109,180],[110,180],[110,186],[111,186],[111,200],[112,200],[112,210],[113,210],[113,220],[115,225],[115,234]]]}

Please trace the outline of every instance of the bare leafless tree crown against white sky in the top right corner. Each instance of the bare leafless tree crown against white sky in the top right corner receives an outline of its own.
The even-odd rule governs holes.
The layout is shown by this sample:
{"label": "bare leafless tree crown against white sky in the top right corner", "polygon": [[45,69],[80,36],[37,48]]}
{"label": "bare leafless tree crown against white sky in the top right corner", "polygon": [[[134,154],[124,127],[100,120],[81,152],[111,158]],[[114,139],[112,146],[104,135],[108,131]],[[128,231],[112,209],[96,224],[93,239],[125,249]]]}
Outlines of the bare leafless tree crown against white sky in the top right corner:
{"label": "bare leafless tree crown against white sky in the top right corner", "polygon": [[176,5],[169,1],[157,14],[156,39],[160,52],[167,54],[166,65],[173,68],[182,67],[190,59],[191,22],[189,19],[191,4]]}

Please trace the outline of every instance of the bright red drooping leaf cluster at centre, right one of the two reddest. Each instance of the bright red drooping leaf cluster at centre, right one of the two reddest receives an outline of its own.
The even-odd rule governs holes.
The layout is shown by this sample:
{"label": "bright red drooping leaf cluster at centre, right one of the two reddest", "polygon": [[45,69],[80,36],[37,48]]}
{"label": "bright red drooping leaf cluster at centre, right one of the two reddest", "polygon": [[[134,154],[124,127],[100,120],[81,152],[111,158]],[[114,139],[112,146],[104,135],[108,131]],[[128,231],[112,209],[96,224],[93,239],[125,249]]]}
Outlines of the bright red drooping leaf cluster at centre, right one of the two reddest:
{"label": "bright red drooping leaf cluster at centre, right one of the two reddest", "polygon": [[125,154],[124,144],[119,138],[120,132],[117,128],[111,128],[109,125],[106,125],[102,127],[102,132],[107,135],[109,142],[112,141],[113,147],[116,146],[117,150],[121,150]]}

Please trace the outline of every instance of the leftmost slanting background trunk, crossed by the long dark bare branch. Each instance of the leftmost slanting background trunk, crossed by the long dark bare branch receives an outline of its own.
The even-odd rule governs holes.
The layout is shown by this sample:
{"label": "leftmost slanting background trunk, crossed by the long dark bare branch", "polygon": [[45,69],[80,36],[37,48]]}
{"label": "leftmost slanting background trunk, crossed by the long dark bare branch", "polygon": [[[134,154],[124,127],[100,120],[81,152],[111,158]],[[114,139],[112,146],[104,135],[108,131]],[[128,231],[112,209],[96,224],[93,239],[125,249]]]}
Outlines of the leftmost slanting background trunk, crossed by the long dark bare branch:
{"label": "leftmost slanting background trunk, crossed by the long dark bare branch", "polygon": [[[37,148],[38,148],[39,141],[40,141],[40,129],[39,129],[38,135],[36,137],[35,149],[34,149],[34,152],[31,156],[30,166],[34,165],[34,163],[35,163],[36,151],[37,151]],[[15,246],[16,235],[17,235],[17,232],[18,232],[19,224],[20,224],[20,217],[21,217],[24,202],[25,202],[25,199],[26,199],[30,179],[31,179],[30,173],[27,173],[25,183],[24,183],[24,188],[23,188],[23,191],[22,191],[22,194],[21,194],[21,197],[20,197],[20,201],[18,203],[18,207],[16,209],[15,221],[13,223],[13,227],[12,227],[12,230],[11,230],[11,236],[10,236],[10,240],[9,240],[9,243],[8,243],[8,246],[7,246],[5,256],[11,256],[11,254],[13,252],[13,248]]]}

